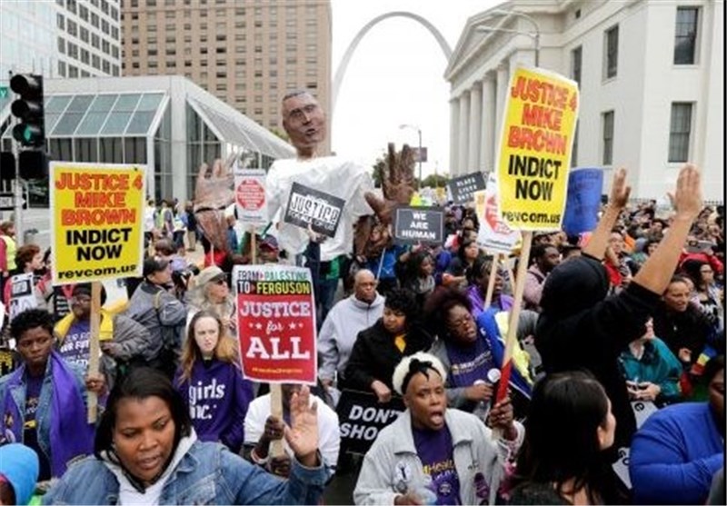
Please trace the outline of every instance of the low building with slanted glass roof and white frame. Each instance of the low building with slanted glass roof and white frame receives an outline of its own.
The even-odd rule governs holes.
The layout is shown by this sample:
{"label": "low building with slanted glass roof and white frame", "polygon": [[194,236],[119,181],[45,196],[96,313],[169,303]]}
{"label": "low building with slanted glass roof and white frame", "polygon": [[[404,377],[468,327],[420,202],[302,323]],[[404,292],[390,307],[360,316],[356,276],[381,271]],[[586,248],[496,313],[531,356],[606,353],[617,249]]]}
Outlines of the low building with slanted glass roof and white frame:
{"label": "low building with slanted glass roof and white frame", "polygon": [[[73,91],[71,91],[73,90]],[[0,147],[12,151],[10,100],[0,102]],[[268,168],[294,149],[179,76],[45,81],[46,149],[53,161],[144,164],[155,199],[189,200],[201,164],[232,154]],[[35,194],[47,181],[33,182]]]}

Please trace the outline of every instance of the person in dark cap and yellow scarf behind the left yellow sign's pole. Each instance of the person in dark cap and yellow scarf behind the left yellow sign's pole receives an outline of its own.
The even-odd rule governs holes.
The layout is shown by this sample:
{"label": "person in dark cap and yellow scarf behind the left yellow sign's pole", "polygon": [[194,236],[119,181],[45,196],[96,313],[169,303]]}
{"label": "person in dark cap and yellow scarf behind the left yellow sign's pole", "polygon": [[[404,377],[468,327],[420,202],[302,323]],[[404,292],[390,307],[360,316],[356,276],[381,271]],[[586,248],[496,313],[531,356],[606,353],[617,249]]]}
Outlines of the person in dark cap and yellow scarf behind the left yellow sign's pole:
{"label": "person in dark cap and yellow scarf behind the left yellow sign's pole", "polygon": [[[106,300],[106,291],[101,287],[101,304]],[[88,351],[91,337],[91,283],[74,285],[71,295],[71,313],[55,323],[58,338],[58,352],[67,362],[88,368]],[[111,380],[129,367],[144,365],[153,358],[149,332],[140,323],[124,314],[111,314],[101,309],[99,341],[105,352],[105,359],[115,361],[116,368],[107,360],[101,361],[109,389]]]}

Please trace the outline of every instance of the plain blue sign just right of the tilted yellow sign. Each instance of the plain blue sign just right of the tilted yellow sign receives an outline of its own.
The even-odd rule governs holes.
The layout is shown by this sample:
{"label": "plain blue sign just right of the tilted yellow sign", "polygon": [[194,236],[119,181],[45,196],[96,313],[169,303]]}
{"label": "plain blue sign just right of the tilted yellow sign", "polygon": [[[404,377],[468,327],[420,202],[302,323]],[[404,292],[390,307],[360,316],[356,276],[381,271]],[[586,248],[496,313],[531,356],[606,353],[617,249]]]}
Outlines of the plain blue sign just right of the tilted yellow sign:
{"label": "plain blue sign just right of the tilted yellow sign", "polygon": [[598,224],[603,190],[603,170],[571,169],[568,175],[568,196],[565,200],[563,231],[569,235],[591,232]]}

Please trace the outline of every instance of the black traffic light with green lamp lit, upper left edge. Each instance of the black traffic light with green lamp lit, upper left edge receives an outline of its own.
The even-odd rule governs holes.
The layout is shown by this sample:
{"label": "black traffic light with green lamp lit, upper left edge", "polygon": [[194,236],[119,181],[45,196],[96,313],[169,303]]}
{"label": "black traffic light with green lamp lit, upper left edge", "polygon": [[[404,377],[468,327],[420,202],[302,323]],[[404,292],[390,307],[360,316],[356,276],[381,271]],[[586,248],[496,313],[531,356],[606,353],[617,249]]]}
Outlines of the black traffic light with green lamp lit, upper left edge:
{"label": "black traffic light with green lamp lit, upper left edge", "polygon": [[13,138],[27,147],[45,146],[43,75],[15,74],[10,79],[10,87],[20,95],[10,106],[19,120],[13,128]]}

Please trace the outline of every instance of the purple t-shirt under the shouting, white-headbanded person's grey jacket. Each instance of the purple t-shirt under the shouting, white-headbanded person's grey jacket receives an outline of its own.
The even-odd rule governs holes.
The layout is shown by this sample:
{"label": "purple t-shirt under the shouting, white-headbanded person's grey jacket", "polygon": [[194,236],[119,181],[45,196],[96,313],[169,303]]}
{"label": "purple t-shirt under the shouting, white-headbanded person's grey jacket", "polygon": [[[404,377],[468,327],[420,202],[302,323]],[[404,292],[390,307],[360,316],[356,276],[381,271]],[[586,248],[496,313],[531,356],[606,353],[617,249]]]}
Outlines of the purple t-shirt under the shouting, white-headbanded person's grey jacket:
{"label": "purple t-shirt under the shouting, white-headbanded person's grey jacket", "polygon": [[412,428],[412,432],[424,473],[432,478],[430,486],[437,494],[437,504],[462,504],[449,429],[446,426],[439,431]]}

